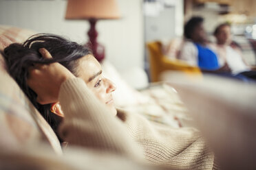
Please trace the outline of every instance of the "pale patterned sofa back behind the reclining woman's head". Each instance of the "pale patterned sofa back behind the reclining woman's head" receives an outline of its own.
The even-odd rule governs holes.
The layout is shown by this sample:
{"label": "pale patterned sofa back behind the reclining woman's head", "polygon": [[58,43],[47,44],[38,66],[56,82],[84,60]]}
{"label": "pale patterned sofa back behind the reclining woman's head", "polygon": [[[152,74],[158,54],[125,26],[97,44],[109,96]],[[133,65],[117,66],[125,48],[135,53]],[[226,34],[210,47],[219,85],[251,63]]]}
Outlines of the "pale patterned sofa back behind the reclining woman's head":
{"label": "pale patterned sofa back behind the reclining woman's head", "polygon": [[[3,51],[13,42],[23,42],[32,34],[34,32],[27,29],[0,25],[0,50]],[[0,79],[0,147],[24,147],[47,141],[54,151],[61,153],[61,146],[52,128],[10,77],[1,55]]]}

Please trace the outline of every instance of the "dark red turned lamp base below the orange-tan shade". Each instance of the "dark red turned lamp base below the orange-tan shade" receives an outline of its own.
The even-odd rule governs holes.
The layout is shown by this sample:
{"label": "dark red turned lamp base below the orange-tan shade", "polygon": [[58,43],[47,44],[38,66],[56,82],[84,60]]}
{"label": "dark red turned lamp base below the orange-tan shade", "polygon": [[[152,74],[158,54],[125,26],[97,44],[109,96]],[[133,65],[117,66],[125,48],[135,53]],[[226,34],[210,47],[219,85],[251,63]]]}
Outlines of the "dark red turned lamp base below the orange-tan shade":
{"label": "dark red turned lamp base below the orange-tan shade", "polygon": [[96,31],[96,22],[96,19],[89,19],[91,27],[87,33],[89,36],[89,42],[87,42],[87,45],[92,49],[94,57],[98,62],[101,62],[105,58],[105,47],[97,42],[98,32]]}

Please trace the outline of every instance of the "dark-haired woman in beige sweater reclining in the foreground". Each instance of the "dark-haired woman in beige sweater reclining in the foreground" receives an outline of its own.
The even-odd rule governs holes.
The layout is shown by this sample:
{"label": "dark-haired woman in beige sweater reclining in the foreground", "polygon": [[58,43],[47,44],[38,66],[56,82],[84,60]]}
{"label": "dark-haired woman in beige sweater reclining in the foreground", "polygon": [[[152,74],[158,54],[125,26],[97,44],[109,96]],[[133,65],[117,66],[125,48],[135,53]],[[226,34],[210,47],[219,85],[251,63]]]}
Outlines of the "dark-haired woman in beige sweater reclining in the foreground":
{"label": "dark-haired woman in beige sweater reclining in the foreground", "polygon": [[37,34],[3,52],[8,71],[60,141],[144,160],[168,169],[213,169],[200,132],[151,123],[116,110],[114,84],[92,52],[60,36]]}

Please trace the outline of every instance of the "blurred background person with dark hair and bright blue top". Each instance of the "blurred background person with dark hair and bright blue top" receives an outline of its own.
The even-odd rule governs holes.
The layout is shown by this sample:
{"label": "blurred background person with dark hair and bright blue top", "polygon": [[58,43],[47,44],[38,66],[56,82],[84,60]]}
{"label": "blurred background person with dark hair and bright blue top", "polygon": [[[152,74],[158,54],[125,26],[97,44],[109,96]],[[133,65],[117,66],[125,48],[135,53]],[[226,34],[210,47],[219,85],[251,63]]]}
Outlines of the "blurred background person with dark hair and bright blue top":
{"label": "blurred background person with dark hair and bright blue top", "polygon": [[180,51],[180,59],[188,64],[199,66],[202,71],[228,71],[227,65],[220,67],[217,54],[207,46],[204,19],[193,16],[184,25],[184,44]]}

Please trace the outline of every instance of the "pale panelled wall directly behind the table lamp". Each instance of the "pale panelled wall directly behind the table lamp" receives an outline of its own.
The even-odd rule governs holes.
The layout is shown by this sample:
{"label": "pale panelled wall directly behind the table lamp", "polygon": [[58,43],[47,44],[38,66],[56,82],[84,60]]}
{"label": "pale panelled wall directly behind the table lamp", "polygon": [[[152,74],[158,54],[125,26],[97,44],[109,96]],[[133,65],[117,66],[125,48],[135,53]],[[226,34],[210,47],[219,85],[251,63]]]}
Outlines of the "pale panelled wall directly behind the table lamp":
{"label": "pale panelled wall directly behind the table lamp", "polygon": [[[120,72],[143,68],[144,34],[142,0],[117,0],[118,20],[99,21],[98,42],[105,45],[106,58]],[[0,0],[0,24],[60,34],[79,43],[87,42],[87,21],[65,21],[65,0]]]}

